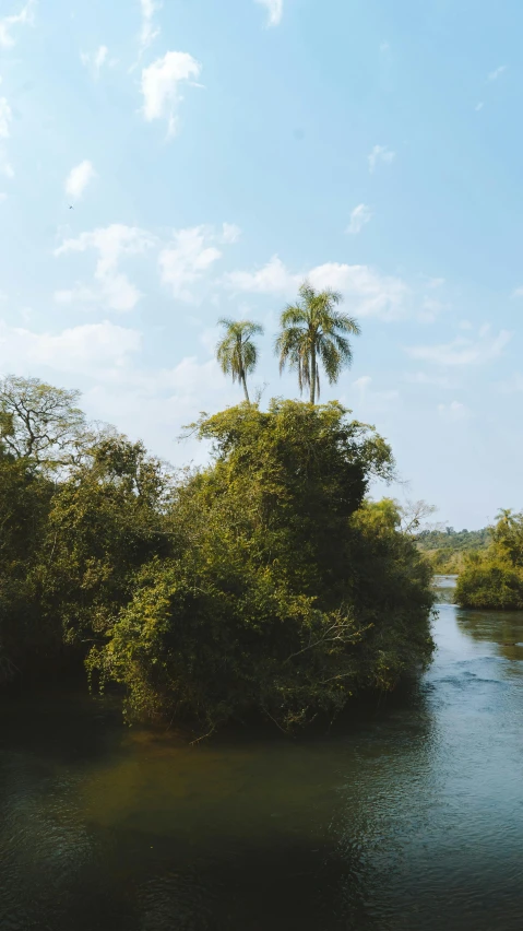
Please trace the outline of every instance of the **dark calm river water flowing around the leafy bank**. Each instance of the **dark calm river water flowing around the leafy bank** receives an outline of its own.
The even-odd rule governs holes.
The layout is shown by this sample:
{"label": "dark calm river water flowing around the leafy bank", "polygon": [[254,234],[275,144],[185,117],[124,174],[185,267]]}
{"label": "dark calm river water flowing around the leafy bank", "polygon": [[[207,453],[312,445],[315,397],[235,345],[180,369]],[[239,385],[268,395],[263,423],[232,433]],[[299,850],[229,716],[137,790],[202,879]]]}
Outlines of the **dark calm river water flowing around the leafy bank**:
{"label": "dark calm river water flowing around the leafy bank", "polygon": [[438,585],[420,686],[330,734],[190,749],[3,697],[1,931],[521,931],[523,615]]}

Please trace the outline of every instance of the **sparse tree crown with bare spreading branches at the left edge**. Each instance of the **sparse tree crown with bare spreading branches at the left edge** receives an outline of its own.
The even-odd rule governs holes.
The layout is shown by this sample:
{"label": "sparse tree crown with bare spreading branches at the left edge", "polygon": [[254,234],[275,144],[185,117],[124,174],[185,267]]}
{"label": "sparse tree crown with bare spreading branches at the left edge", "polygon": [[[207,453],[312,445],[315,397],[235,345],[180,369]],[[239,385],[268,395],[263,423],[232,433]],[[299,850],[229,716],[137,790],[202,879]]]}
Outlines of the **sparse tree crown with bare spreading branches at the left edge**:
{"label": "sparse tree crown with bare spreading branches at the left edge", "polygon": [[8,375],[0,382],[4,451],[44,469],[70,464],[88,433],[85,414],[76,406],[79,398],[80,391]]}

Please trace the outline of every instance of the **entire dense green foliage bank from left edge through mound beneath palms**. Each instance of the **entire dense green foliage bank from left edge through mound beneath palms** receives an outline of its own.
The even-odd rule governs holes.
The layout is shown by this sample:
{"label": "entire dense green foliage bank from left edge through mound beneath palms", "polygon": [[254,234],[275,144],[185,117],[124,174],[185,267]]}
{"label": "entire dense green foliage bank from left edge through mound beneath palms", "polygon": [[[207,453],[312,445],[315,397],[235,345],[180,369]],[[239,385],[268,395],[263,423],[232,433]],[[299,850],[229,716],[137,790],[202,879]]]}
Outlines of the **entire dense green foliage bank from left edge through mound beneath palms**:
{"label": "entire dense green foliage bank from left edge through mound beneath palms", "polygon": [[129,720],[207,732],[252,711],[287,730],[421,668],[430,570],[395,504],[366,498],[393,473],[384,440],[337,403],[193,429],[211,463],[176,476],[107,432],[59,476],[3,448],[0,676],[70,650]]}

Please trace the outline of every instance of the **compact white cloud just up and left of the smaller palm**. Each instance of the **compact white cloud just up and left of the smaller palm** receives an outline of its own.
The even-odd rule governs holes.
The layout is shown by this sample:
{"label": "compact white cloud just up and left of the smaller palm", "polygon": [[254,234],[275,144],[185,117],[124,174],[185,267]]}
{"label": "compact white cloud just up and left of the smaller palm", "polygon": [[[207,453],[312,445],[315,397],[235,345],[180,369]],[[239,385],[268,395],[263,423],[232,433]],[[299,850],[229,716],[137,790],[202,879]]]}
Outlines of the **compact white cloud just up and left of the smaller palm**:
{"label": "compact white cloud just up and left of the smaller palm", "polygon": [[212,245],[213,240],[213,235],[204,226],[192,226],[175,231],[171,244],[162,249],[158,258],[162,281],[169,285],[174,297],[193,299],[189,286],[222,256],[219,249]]}

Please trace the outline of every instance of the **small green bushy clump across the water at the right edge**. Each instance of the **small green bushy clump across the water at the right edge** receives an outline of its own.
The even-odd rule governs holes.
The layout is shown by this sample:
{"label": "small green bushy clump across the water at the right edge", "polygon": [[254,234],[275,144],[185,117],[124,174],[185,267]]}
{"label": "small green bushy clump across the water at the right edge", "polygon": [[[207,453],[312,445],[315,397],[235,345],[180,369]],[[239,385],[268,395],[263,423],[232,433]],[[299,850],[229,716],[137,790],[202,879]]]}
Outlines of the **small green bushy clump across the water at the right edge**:
{"label": "small green bushy clump across the water at the right edge", "polygon": [[501,511],[485,552],[471,553],[457,580],[463,608],[523,610],[523,514]]}

